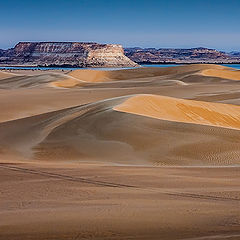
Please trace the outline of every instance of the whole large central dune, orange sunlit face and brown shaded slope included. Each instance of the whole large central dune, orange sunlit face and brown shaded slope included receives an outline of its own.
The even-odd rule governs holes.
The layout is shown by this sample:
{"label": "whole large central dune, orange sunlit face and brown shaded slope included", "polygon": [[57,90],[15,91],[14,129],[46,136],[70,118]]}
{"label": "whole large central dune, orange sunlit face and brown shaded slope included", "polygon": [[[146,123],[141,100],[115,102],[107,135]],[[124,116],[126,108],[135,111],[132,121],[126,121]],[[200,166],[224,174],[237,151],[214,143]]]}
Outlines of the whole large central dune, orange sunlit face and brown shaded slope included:
{"label": "whole large central dune, orange sunlit face and brown shaded slope included", "polygon": [[239,128],[239,114],[225,104],[127,96],[2,123],[0,145],[48,161],[232,165],[240,131],[223,127]]}

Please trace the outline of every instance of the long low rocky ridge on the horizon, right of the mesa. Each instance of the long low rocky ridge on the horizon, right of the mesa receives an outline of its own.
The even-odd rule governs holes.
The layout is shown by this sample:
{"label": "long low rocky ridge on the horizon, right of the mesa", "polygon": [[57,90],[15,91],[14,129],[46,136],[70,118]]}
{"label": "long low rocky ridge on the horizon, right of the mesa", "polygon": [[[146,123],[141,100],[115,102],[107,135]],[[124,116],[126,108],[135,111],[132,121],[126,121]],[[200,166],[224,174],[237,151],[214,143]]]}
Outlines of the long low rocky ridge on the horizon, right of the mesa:
{"label": "long low rocky ridge on the horizon, right of the mesa", "polygon": [[209,48],[126,48],[125,55],[137,63],[240,63],[239,53]]}

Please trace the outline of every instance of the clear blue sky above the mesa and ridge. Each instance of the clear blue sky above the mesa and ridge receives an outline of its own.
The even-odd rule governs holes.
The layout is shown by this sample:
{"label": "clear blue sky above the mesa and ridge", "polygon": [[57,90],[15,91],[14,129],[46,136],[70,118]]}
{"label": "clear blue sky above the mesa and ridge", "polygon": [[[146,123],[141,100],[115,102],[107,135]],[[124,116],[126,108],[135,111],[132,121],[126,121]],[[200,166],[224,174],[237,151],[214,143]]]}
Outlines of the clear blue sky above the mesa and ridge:
{"label": "clear blue sky above the mesa and ridge", "polygon": [[240,0],[0,0],[0,48],[18,41],[240,51]]}

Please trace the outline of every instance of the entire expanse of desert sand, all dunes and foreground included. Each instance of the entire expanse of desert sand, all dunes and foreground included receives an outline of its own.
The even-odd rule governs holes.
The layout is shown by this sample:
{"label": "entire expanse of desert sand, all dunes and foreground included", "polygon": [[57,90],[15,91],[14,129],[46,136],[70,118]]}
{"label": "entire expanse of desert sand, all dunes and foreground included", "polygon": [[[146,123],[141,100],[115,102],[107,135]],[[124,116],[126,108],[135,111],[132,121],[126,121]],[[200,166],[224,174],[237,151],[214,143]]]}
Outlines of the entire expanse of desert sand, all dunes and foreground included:
{"label": "entire expanse of desert sand, all dunes and foreground included", "polygon": [[240,239],[240,71],[0,71],[0,239]]}

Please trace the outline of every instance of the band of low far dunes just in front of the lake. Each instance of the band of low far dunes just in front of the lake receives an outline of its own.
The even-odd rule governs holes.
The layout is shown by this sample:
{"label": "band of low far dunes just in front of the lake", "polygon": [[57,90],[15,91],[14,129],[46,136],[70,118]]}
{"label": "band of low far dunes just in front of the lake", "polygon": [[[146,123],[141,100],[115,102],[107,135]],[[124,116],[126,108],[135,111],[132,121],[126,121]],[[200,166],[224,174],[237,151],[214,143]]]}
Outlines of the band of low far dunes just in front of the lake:
{"label": "band of low far dunes just in front of the lake", "polygon": [[130,88],[148,86],[187,85],[199,82],[218,82],[222,79],[238,80],[239,73],[231,68],[210,65],[183,65],[177,67],[143,67],[124,70],[74,70],[70,73],[43,73],[19,75],[0,72],[0,88],[39,87],[108,87]]}

